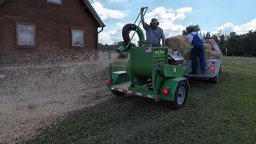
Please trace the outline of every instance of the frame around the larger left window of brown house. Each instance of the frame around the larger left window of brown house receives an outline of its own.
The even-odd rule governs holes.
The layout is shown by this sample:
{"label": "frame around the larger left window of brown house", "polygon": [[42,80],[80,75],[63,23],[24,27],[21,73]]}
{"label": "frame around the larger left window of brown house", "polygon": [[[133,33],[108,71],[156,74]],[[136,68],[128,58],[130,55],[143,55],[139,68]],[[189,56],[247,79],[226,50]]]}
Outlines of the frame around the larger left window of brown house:
{"label": "frame around the larger left window of brown house", "polygon": [[[20,33],[19,33],[19,29],[20,29],[20,27],[32,27],[33,28],[33,40],[34,40],[34,42],[33,42],[33,44],[21,44],[21,42],[20,42]],[[33,46],[33,47],[35,47],[36,46],[36,26],[33,26],[33,25],[22,25],[22,24],[17,24],[17,45],[18,45],[18,47],[20,47],[20,46]]]}

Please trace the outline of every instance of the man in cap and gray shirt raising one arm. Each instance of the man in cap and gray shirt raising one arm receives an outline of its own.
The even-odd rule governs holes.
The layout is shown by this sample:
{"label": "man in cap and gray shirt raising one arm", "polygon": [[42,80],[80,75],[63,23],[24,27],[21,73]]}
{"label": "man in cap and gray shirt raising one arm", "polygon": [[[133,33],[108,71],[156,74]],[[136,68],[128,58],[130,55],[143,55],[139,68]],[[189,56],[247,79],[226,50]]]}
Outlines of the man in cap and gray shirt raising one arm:
{"label": "man in cap and gray shirt raising one arm", "polygon": [[153,46],[161,46],[160,39],[162,39],[162,45],[165,46],[165,35],[162,28],[158,27],[159,22],[157,19],[151,19],[150,25],[144,21],[143,7],[140,9],[141,23],[143,28],[146,30],[146,38],[148,43],[152,43]]}

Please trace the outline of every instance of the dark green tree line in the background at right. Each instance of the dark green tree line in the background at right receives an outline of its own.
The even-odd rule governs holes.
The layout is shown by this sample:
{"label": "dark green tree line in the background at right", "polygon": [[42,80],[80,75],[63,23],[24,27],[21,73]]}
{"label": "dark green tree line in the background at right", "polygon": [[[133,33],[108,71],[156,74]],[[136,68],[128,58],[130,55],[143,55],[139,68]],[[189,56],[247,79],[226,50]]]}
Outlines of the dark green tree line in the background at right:
{"label": "dark green tree line in the background at right", "polygon": [[[196,31],[201,31],[199,25],[190,25],[182,31],[182,35],[188,35],[189,30],[195,28]],[[201,33],[200,33],[201,34]],[[223,33],[221,30],[217,34],[201,34],[203,38],[212,38],[220,46],[220,49],[227,49],[227,55],[243,55],[246,57],[256,56],[256,30],[249,30],[246,34],[238,35],[236,32],[229,34]]]}

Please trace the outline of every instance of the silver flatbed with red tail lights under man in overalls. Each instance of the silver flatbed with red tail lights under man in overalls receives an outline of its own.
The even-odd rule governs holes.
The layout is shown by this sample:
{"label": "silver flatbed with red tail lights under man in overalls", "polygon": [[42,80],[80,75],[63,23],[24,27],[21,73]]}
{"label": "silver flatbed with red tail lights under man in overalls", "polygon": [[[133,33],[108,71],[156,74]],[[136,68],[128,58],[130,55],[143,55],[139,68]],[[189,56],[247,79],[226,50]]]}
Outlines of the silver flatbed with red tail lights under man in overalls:
{"label": "silver flatbed with red tail lights under man in overalls", "polygon": [[[214,39],[202,39],[204,44],[209,44],[212,47],[212,51],[221,52],[218,43],[214,41]],[[227,50],[226,50],[227,51]],[[190,75],[189,73],[192,71],[191,69],[191,60],[184,60],[184,76],[185,77],[196,77],[196,78],[206,78],[210,79],[214,83],[218,83],[219,81],[219,73],[222,70],[222,57],[210,57],[209,60],[205,60],[205,74],[198,73],[197,75]],[[198,60],[197,63],[197,71],[201,71],[200,63]]]}

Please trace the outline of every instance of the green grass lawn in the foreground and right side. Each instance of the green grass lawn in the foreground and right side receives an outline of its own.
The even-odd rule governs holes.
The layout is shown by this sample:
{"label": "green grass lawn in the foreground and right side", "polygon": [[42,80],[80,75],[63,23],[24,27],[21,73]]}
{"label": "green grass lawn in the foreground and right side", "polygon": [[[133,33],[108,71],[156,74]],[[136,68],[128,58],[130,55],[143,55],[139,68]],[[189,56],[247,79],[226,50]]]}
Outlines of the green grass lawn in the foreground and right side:
{"label": "green grass lawn in the foreground and right side", "polygon": [[70,114],[25,143],[255,143],[256,58],[224,57],[218,84],[189,81],[185,107],[133,95]]}

